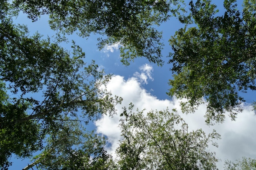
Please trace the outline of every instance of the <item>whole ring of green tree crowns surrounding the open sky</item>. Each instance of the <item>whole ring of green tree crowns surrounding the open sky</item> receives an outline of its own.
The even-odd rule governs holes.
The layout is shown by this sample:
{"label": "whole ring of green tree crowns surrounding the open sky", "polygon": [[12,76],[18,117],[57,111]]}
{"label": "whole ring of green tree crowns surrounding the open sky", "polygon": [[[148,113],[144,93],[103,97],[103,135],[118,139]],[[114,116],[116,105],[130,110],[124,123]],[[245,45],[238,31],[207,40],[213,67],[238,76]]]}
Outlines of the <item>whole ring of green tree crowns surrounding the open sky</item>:
{"label": "whole ring of green tree crowns surrounding the open sky", "polygon": [[[79,45],[71,40],[70,51],[61,43],[67,35],[97,34],[99,49],[120,44],[126,66],[137,57],[162,66],[164,43],[157,26],[176,17],[184,27],[170,35],[173,75],[167,94],[186,99],[184,113],[206,103],[207,124],[222,123],[226,113],[235,120],[245,102],[241,93],[256,90],[256,4],[244,0],[242,10],[236,0],[223,4],[222,15],[211,0],[0,1],[0,168],[7,170],[15,155],[31,158],[23,170],[216,169],[218,159],[207,147],[220,139],[218,133],[189,131],[168,109],[146,115],[124,108],[119,159],[113,159],[106,137],[86,128],[115,114],[122,94],[106,89],[112,75],[88,61]],[[21,12],[33,22],[49,16],[56,36],[31,35],[26,25],[14,22]],[[226,166],[244,164],[254,167],[255,160]]]}

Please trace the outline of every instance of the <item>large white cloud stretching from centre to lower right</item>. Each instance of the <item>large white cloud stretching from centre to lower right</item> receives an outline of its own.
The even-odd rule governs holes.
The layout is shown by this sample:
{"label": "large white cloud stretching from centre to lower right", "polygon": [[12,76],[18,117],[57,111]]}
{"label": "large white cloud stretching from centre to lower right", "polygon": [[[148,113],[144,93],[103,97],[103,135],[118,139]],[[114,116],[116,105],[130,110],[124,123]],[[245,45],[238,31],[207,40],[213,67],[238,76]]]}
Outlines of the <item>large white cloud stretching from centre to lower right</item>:
{"label": "large white cloud stretching from centre to lower right", "polygon": [[[153,68],[147,64],[141,67],[141,72],[145,73],[146,77],[149,79],[153,79],[151,77],[152,71]],[[120,119],[119,115],[122,113],[123,106],[128,107],[130,102],[132,102],[135,108],[139,108],[139,110],[144,108],[147,109],[146,111],[151,109],[163,110],[167,107],[169,109],[177,108],[178,111],[180,110],[180,100],[175,98],[172,100],[159,100],[142,88],[140,81],[144,81],[145,79],[140,75],[141,73],[134,74],[135,77],[131,77],[128,80],[125,80],[124,77],[119,75],[111,79],[107,86],[108,90],[112,91],[113,95],[123,97],[124,100],[121,105],[116,106],[117,115],[114,115],[114,117],[103,116],[100,120],[95,122],[97,132],[106,135],[109,142],[112,144],[107,150],[112,153],[114,157],[115,149],[118,146],[119,140],[121,140],[121,132],[118,125]],[[146,78],[146,80],[148,78]],[[206,133],[210,133],[214,128],[220,133],[222,139],[217,141],[219,148],[209,146],[209,149],[216,152],[216,156],[222,159],[222,161],[217,164],[219,169],[223,169],[223,164],[227,159],[234,161],[241,157],[256,158],[256,116],[250,107],[245,106],[245,110],[243,113],[238,114],[236,121],[231,121],[229,117],[227,117],[223,124],[210,127],[205,125],[204,122],[205,110],[206,105],[204,104],[193,114],[186,115],[179,113],[189,125],[190,130],[202,128]],[[144,113],[146,113],[146,111]]]}

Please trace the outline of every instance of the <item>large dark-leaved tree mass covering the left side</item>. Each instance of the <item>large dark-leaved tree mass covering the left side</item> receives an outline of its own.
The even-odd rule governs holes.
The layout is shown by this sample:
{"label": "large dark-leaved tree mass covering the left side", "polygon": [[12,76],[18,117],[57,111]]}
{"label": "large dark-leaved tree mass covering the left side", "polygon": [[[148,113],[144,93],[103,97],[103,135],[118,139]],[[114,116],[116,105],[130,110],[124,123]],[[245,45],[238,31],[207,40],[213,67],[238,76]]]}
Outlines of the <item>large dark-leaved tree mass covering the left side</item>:
{"label": "large dark-leaved tree mass covering the left side", "polygon": [[98,71],[94,61],[86,64],[75,42],[70,53],[57,41],[38,33],[30,36],[26,26],[13,24],[9,3],[0,1],[2,169],[11,164],[12,154],[23,158],[43,148],[49,151],[47,140],[72,121],[85,126],[102,114],[115,113],[115,104],[121,102],[104,88],[111,76]]}

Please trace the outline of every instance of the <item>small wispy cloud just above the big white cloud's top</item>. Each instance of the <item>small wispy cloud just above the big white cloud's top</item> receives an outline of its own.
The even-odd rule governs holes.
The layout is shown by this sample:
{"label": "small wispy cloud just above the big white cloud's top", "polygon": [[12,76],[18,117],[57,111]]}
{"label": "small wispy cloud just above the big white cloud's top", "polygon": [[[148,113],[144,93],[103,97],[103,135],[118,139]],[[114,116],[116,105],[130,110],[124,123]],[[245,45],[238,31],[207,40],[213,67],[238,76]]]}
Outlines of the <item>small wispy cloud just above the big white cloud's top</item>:
{"label": "small wispy cloud just above the big white cloud's top", "polygon": [[153,72],[153,66],[150,66],[149,64],[144,64],[143,66],[139,67],[139,72],[135,72],[133,74],[134,77],[138,78],[138,81],[141,82],[142,84],[148,84],[148,79],[154,80],[153,77],[151,76]]}

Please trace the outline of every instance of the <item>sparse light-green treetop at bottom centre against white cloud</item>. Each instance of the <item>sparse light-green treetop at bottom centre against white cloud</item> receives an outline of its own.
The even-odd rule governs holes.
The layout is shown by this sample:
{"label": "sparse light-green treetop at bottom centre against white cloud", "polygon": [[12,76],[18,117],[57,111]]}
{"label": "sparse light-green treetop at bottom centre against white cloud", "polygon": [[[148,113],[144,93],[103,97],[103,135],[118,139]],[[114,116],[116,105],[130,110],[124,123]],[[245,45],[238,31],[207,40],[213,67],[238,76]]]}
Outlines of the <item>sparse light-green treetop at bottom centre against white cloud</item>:
{"label": "sparse light-green treetop at bottom centre against white cloud", "polygon": [[[207,151],[215,131],[206,135],[202,129],[189,132],[188,125],[176,113],[150,111],[125,112],[121,120],[124,139],[117,154],[121,170],[214,170],[215,153]],[[213,145],[216,143],[213,142]]]}

